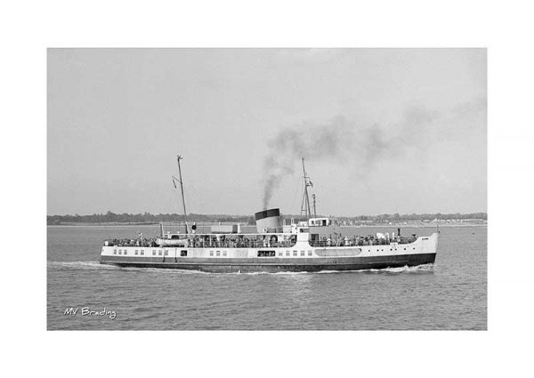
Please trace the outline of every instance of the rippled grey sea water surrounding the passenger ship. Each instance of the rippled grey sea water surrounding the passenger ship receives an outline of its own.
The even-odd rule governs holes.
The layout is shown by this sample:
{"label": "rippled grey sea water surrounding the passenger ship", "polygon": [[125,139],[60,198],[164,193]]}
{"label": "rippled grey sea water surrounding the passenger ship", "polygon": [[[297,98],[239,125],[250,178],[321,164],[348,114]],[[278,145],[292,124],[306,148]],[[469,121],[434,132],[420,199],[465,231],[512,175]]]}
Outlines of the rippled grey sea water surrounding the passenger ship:
{"label": "rippled grey sea water surrounding the passenger ship", "polygon": [[[336,229],[349,237],[396,230]],[[221,274],[98,262],[104,239],[137,231],[159,229],[48,227],[49,330],[487,329],[486,227],[441,228],[435,263],[411,268]]]}

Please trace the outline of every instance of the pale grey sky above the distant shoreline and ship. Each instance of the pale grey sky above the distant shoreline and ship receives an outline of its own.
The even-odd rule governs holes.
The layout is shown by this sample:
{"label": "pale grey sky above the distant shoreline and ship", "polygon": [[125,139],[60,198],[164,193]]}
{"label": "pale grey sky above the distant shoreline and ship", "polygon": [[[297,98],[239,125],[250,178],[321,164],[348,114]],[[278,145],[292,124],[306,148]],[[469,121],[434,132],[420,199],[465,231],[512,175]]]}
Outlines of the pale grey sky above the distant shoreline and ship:
{"label": "pale grey sky above the distant shoreline and ship", "polygon": [[47,213],[487,210],[485,49],[49,49]]}

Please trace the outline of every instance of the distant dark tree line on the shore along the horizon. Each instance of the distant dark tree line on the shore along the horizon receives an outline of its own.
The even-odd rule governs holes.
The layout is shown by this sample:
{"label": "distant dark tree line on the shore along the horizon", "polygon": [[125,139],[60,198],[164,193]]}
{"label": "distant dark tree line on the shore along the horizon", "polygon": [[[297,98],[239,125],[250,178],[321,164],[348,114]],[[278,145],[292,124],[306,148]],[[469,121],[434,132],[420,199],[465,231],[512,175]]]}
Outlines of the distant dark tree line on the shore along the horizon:
{"label": "distant dark tree line on the shore along the horizon", "polygon": [[[320,217],[322,215],[318,215]],[[196,222],[235,222],[255,224],[254,216],[249,215],[229,215],[229,214],[197,214],[190,213],[187,216],[188,221]],[[298,220],[300,215],[285,214],[284,218]],[[380,215],[358,215],[358,216],[329,216],[329,218],[343,221],[355,222],[399,222],[399,221],[428,221],[434,219],[440,220],[468,220],[480,219],[487,220],[487,213],[423,213],[423,214],[380,214]],[[159,223],[159,222],[182,222],[183,214],[166,213],[93,213],[91,215],[47,215],[46,224],[66,224],[66,223]]]}

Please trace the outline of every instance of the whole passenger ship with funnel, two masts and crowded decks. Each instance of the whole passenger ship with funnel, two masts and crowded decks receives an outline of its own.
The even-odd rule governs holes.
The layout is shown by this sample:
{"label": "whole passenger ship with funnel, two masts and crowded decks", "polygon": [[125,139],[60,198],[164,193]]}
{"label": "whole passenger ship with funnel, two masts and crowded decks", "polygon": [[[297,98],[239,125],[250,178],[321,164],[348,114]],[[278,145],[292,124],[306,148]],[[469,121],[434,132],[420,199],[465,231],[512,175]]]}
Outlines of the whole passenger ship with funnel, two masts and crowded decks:
{"label": "whole passenger ship with funnel, two masts and crowded decks", "polygon": [[[425,237],[397,232],[335,237],[321,229],[331,225],[317,217],[308,193],[312,181],[303,159],[303,219],[286,221],[278,207],[255,213],[255,232],[242,232],[240,224],[211,226],[200,232],[187,221],[183,196],[181,156],[177,157],[183,205],[183,232],[168,231],[160,223],[158,237],[110,238],[101,247],[101,264],[118,267],[198,270],[213,273],[317,272],[387,269],[433,264],[439,231]],[[313,213],[312,213],[313,208]]]}

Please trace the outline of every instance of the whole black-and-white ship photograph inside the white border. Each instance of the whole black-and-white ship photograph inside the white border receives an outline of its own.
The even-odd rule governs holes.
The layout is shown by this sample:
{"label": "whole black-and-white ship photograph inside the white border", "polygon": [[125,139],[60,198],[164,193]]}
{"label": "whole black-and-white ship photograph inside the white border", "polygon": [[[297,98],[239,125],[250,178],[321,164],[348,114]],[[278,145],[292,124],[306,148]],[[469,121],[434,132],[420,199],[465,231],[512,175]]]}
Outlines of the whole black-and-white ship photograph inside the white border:
{"label": "whole black-and-white ship photograph inside the white border", "polygon": [[49,330],[487,329],[485,49],[47,63]]}

